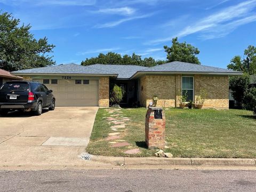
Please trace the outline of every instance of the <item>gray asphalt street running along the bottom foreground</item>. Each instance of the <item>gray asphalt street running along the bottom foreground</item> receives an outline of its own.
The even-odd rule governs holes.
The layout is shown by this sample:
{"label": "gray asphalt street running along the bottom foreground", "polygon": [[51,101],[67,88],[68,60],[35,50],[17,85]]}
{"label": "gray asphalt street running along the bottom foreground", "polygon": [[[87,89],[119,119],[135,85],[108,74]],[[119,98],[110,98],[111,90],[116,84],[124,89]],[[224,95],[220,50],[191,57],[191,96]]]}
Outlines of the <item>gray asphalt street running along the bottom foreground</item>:
{"label": "gray asphalt street running along the bottom foreground", "polygon": [[256,171],[0,171],[0,191],[256,191]]}

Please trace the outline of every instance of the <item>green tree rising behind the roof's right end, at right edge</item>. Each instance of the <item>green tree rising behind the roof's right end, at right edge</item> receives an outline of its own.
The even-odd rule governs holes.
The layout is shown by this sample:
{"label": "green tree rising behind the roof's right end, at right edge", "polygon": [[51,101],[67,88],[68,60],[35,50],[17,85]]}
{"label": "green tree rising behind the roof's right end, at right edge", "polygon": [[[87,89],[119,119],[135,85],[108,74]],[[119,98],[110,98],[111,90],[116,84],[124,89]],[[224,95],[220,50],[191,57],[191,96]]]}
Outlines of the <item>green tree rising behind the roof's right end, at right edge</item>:
{"label": "green tree rising behind the roof's right end, at right edge", "polygon": [[256,74],[256,47],[249,45],[247,49],[244,50],[244,59],[236,55],[231,59],[227,68],[242,71],[249,75]]}

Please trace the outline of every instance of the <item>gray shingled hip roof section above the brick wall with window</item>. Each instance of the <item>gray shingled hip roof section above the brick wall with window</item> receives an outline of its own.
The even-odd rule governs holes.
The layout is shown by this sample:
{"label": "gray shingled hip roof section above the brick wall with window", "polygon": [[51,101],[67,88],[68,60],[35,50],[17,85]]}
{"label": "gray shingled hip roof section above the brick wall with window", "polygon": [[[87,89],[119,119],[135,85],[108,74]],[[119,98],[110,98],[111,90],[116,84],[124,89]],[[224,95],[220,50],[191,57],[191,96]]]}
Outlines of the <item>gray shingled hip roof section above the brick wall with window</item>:
{"label": "gray shingled hip roof section above the brick wall with window", "polygon": [[173,61],[170,63],[165,63],[163,65],[158,65],[155,67],[150,67],[143,71],[180,71],[180,72],[207,72],[207,73],[234,73],[237,71],[222,69],[217,67],[210,67],[204,65],[196,65],[193,63]]}

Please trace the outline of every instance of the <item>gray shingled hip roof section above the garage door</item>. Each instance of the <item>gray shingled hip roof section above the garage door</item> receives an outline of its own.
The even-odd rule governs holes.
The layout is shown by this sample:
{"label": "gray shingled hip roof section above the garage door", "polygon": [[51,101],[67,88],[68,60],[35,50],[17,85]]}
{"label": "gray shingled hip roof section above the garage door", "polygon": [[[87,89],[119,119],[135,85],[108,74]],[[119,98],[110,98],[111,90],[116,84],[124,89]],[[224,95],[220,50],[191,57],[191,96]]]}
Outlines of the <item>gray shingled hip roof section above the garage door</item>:
{"label": "gray shingled hip roof section above the garage door", "polygon": [[94,69],[90,66],[77,65],[75,63],[54,65],[49,67],[39,67],[33,69],[23,69],[18,71],[13,71],[14,74],[95,74],[95,75],[113,75],[111,71],[106,71],[103,69]]}

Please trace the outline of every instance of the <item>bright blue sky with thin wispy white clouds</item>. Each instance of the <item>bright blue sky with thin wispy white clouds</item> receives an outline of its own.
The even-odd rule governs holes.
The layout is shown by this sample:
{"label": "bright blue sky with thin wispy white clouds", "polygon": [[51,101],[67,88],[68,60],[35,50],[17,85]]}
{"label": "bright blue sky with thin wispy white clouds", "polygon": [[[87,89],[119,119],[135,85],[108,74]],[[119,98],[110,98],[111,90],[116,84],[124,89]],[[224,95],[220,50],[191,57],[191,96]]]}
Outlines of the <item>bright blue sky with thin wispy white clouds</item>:
{"label": "bright blue sky with thin wispy white clouds", "polygon": [[256,45],[256,0],[0,0],[0,10],[56,45],[54,60],[80,63],[109,51],[165,59],[178,36],[203,65],[226,68]]}

